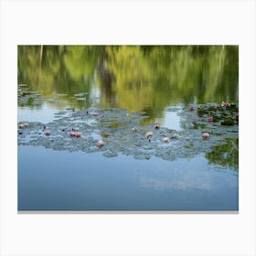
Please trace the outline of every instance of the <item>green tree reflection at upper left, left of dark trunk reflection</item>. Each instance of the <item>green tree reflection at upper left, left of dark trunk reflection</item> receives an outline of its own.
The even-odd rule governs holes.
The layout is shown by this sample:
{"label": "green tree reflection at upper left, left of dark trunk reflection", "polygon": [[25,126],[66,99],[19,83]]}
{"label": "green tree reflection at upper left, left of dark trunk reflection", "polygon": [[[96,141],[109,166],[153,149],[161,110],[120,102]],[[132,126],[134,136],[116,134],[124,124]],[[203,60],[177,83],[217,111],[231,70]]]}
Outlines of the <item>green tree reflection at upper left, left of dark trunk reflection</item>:
{"label": "green tree reflection at upper left, left of dark trunk reflection", "polygon": [[[74,93],[90,92],[99,48],[91,46],[19,46],[18,81],[30,91],[46,98],[67,94],[65,99],[77,108],[89,107],[88,101],[73,99]],[[58,107],[56,105],[55,107]]]}

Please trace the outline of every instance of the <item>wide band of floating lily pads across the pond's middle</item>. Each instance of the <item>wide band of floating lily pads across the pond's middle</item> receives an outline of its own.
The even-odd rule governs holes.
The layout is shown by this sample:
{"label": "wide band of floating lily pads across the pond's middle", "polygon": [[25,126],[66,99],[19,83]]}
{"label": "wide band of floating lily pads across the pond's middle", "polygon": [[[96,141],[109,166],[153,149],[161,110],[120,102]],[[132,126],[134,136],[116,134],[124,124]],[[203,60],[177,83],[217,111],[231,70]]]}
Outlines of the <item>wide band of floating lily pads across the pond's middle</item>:
{"label": "wide band of floating lily pads across the pond's middle", "polygon": [[[147,118],[144,112],[127,114],[126,110],[117,108],[84,111],[67,108],[57,112],[51,123],[26,123],[22,131],[20,125],[24,122],[18,123],[18,144],[43,145],[69,152],[100,151],[106,157],[123,154],[148,160],[155,155],[175,160],[201,153],[210,154],[214,148],[227,144],[227,139],[238,139],[238,107],[215,108],[214,104],[207,104],[194,105],[193,110],[187,108],[178,112],[185,128],[176,131],[163,126],[155,130],[155,123],[142,126],[142,121]],[[207,122],[208,116],[213,117],[212,122]],[[233,123],[223,124],[227,119],[232,119]],[[136,127],[135,133],[133,127]],[[46,133],[46,128],[50,133]],[[79,135],[70,135],[73,133]],[[208,139],[204,139],[205,133],[209,134]],[[103,146],[99,146],[99,141],[103,142]]]}

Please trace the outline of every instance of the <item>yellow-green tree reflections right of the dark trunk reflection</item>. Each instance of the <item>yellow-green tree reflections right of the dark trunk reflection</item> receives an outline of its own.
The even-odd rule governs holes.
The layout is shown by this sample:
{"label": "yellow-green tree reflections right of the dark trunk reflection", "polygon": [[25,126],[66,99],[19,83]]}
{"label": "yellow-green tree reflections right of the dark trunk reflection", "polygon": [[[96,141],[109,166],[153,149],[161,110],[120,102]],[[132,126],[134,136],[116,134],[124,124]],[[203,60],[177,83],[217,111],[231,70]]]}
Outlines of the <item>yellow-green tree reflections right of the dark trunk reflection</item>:
{"label": "yellow-green tree reflections right of the dark trunk reflection", "polygon": [[230,101],[237,101],[232,92],[237,91],[237,47],[120,46],[107,50],[108,69],[115,79],[112,90],[123,108],[150,110],[152,117],[159,117],[170,102],[188,103],[195,95],[200,103],[224,101],[228,95]]}

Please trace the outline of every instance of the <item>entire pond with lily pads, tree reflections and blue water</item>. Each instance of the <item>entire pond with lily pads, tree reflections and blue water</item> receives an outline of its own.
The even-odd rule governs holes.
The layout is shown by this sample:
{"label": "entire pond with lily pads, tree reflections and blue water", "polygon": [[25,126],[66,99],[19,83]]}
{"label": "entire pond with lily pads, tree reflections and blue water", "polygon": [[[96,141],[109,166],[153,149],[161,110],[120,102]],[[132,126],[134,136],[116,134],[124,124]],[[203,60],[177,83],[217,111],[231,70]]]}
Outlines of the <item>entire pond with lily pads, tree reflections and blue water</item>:
{"label": "entire pond with lily pads, tree reflections and blue water", "polygon": [[18,210],[239,209],[237,46],[18,46],[17,63]]}

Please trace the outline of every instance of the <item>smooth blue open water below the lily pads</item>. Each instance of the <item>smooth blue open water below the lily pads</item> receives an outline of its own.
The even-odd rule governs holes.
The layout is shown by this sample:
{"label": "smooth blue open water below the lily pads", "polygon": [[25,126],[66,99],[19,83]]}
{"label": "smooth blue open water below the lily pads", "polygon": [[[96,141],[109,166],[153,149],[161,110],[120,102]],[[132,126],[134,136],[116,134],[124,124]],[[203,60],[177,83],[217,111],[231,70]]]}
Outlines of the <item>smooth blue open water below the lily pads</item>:
{"label": "smooth blue open water below the lily pads", "polygon": [[193,159],[18,146],[18,210],[238,210],[238,172]]}

